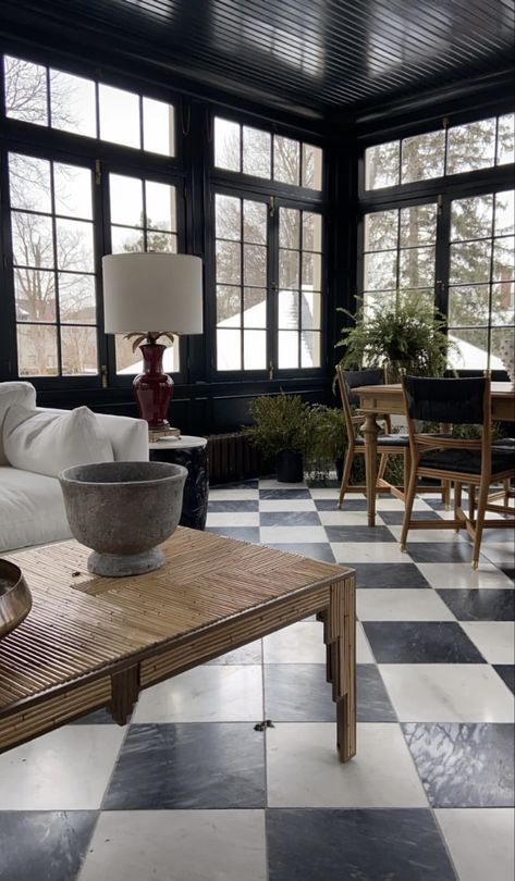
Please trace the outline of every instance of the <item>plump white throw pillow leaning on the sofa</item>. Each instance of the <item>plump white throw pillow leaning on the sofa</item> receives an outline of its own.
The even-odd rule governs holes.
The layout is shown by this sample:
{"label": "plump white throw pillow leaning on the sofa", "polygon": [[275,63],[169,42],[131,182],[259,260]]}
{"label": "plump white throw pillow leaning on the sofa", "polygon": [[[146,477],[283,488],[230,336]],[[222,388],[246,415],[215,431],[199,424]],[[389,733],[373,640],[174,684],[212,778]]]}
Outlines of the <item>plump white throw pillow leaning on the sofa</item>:
{"label": "plump white throw pillow leaning on the sofa", "polygon": [[114,459],[109,438],[87,407],[62,413],[10,407],[3,420],[3,448],[13,468],[49,477],[72,466]]}

